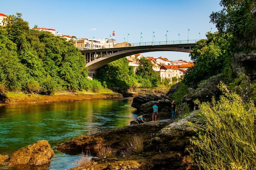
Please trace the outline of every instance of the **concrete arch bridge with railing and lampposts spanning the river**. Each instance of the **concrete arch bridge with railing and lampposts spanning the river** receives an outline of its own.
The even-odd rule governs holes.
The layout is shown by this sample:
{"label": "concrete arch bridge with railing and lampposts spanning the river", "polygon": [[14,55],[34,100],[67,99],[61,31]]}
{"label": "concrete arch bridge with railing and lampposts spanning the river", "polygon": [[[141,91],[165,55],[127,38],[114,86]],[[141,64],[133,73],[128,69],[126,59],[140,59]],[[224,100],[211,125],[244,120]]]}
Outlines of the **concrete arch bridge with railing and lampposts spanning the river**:
{"label": "concrete arch bridge with railing and lampposts spanning the river", "polygon": [[94,72],[103,65],[132,54],[140,54],[151,51],[180,51],[190,53],[191,49],[195,47],[197,41],[198,40],[186,40],[185,43],[182,43],[184,41],[178,41],[180,43],[175,43],[175,41],[172,41],[173,43],[170,44],[164,41],[164,44],[159,42],[157,45],[154,45],[153,42],[141,42],[138,43],[139,45],[131,45],[127,43],[124,45],[124,47],[108,49],[81,49],[80,51],[85,56],[88,71]]}

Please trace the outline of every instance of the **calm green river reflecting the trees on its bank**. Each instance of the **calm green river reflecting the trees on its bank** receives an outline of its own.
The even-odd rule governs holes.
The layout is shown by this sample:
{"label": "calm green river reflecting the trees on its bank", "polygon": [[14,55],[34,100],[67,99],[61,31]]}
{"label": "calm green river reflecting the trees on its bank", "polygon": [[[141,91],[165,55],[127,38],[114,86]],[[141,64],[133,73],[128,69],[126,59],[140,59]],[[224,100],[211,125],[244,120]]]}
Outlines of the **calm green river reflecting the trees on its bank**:
{"label": "calm green river reflecting the trees on its bank", "polygon": [[[54,150],[47,169],[64,170],[77,166],[79,155],[67,155],[55,146],[82,134],[130,125],[136,118],[132,98],[90,99],[47,104],[20,104],[0,107],[0,154],[46,140]],[[20,170],[0,166],[5,170]]]}

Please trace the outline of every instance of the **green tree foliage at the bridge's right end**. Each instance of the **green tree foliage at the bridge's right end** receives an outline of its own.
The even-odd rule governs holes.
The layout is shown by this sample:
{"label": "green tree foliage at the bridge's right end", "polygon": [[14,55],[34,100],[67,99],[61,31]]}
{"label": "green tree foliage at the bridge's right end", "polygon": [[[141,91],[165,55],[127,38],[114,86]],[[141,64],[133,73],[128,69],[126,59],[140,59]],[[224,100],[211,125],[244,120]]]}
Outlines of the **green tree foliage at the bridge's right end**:
{"label": "green tree foliage at the bridge's right end", "polygon": [[[207,33],[207,39],[198,41],[190,53],[194,67],[188,69],[183,82],[189,87],[197,87],[198,83],[211,76],[224,74],[231,68],[231,54],[227,34]],[[227,78],[232,76],[229,72]]]}

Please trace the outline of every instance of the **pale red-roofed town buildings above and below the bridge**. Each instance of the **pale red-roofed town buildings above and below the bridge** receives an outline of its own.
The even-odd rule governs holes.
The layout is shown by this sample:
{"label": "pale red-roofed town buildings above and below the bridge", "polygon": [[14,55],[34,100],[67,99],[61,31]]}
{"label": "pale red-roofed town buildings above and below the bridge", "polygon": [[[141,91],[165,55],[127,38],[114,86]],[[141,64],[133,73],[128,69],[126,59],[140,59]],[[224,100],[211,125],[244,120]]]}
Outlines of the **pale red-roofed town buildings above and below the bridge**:
{"label": "pale red-roofed town buildings above and below the bridge", "polygon": [[[7,15],[0,13],[0,25],[4,26],[4,18],[7,18]],[[103,49],[103,48],[118,48],[118,47],[132,47],[133,45],[128,42],[122,42],[117,43],[114,39],[115,33],[112,33],[109,38],[105,38],[104,40],[97,40],[94,39],[88,39],[88,38],[76,38],[76,36],[69,36],[64,35],[61,33],[56,32],[55,29],[45,28],[45,27],[35,27],[33,29],[37,29],[39,31],[49,31],[54,36],[58,36],[61,38],[65,38],[67,41],[73,40],[75,47],[77,47],[80,51],[81,50],[90,50],[90,49]],[[129,66],[133,66],[135,70],[137,67],[139,67],[139,59],[141,57],[144,57],[141,54],[134,54],[130,56],[126,56],[126,58],[129,61]],[[158,72],[159,76],[161,77],[161,80],[169,79],[170,82],[172,82],[173,77],[176,77],[177,79],[182,78],[183,75],[186,73],[187,69],[189,67],[192,67],[194,65],[193,62],[187,62],[185,60],[175,60],[170,61],[167,58],[164,58],[162,56],[158,58],[154,58],[151,56],[147,56],[148,60],[153,65],[153,70]]]}

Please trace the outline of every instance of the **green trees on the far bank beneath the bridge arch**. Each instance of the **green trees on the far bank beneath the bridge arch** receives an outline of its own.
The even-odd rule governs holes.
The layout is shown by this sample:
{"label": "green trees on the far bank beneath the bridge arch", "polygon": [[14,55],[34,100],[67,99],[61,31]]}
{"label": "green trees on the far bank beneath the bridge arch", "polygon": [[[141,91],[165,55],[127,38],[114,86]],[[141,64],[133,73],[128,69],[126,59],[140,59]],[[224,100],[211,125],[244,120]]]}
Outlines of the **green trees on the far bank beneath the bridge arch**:
{"label": "green trees on the far bank beneath the bridge arch", "polygon": [[128,66],[127,58],[112,61],[97,70],[95,79],[105,82],[109,88],[157,87],[161,83],[161,78],[153,70],[153,65],[145,57],[141,57],[139,61],[141,65],[135,72],[134,67]]}

